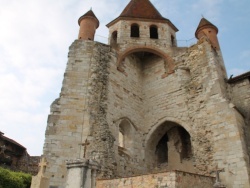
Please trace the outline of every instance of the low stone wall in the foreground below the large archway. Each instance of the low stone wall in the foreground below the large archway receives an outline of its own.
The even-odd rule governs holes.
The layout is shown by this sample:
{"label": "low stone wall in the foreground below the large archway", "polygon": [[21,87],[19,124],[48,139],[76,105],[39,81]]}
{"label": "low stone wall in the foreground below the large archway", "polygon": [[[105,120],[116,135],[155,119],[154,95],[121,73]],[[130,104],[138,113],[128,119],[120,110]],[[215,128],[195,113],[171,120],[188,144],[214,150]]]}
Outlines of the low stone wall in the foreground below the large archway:
{"label": "low stone wall in the foreground below the large archway", "polygon": [[174,171],[112,180],[97,180],[96,188],[211,188],[214,178]]}

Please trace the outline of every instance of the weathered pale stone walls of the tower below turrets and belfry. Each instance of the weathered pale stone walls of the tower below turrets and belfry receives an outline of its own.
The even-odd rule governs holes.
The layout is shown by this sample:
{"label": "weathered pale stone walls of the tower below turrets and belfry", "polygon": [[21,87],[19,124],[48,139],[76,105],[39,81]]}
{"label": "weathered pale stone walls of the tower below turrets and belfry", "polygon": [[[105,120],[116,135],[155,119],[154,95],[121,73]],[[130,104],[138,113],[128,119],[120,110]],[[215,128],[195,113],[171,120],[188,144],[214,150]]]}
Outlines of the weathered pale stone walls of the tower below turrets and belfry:
{"label": "weathered pale stone walls of the tower below turrets and belfry", "polygon": [[[245,122],[230,104],[220,54],[207,41],[173,48],[167,56],[173,58],[175,71],[166,74],[168,62],[162,57],[140,53],[128,54],[121,65],[125,71],[118,71],[116,52],[92,41],[75,41],[70,47],[44,144],[49,163],[45,175],[51,185],[62,187],[65,161],[84,155],[102,166],[99,177],[153,172],[155,146],[150,144],[165,123],[165,131],[178,125],[190,134],[193,154],[188,166],[195,172],[208,175],[224,168],[227,187],[249,187]],[[123,120],[132,131],[129,147],[119,149]],[[87,147],[82,146],[86,139]]]}

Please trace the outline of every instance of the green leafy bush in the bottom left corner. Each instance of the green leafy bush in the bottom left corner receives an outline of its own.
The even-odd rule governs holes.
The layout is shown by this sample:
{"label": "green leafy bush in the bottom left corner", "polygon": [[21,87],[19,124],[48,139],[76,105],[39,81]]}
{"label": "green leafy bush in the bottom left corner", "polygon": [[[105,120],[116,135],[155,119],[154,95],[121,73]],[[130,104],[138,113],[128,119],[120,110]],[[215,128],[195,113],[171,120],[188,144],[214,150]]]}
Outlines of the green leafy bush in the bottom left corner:
{"label": "green leafy bush in the bottom left corner", "polygon": [[0,167],[0,188],[30,188],[31,175]]}

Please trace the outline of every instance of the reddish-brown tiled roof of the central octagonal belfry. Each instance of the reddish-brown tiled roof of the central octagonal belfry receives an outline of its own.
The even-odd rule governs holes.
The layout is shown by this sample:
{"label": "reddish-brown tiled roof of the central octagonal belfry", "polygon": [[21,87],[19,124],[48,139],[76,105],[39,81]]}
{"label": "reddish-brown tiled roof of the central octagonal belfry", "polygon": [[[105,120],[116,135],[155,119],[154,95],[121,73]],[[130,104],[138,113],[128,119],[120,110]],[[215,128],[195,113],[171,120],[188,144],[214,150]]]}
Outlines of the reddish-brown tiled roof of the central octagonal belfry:
{"label": "reddish-brown tiled roof of the central octagonal belfry", "polygon": [[159,11],[154,7],[150,0],[131,0],[129,4],[122,11],[120,16],[115,20],[107,24],[107,27],[110,27],[117,21],[121,19],[142,19],[142,20],[151,20],[168,23],[175,31],[178,29],[172,24],[172,22],[164,18]]}

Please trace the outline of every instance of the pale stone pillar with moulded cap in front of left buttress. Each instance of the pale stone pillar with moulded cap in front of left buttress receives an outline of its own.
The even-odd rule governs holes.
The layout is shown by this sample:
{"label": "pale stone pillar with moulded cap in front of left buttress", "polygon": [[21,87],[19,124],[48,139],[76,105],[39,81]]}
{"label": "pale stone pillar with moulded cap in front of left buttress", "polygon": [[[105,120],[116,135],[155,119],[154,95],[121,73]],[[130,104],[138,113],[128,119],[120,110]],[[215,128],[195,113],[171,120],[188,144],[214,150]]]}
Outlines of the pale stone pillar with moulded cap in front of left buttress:
{"label": "pale stone pillar with moulded cap in front of left buttress", "polygon": [[95,188],[99,164],[91,159],[67,161],[68,175],[65,188]]}

